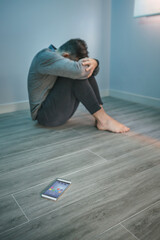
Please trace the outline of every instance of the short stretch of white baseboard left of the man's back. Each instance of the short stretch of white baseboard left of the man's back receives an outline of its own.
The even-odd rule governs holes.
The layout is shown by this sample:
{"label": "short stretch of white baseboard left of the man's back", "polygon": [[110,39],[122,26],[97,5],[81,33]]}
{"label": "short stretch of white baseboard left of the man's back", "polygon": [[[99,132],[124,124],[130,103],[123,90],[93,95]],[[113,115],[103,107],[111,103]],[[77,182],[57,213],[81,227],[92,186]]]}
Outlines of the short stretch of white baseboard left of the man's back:
{"label": "short stretch of white baseboard left of the man's back", "polygon": [[0,104],[0,114],[8,113],[8,112],[15,112],[19,110],[29,109],[29,102],[15,102],[9,104]]}

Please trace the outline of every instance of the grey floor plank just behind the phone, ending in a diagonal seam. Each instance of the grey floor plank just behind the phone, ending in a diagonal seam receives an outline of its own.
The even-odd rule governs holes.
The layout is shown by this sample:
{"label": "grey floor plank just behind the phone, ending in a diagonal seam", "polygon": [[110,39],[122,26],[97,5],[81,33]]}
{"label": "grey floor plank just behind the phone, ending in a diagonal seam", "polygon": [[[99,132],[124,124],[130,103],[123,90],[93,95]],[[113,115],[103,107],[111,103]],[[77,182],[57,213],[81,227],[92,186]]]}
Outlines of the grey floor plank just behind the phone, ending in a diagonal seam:
{"label": "grey floor plank just behind the phone, ending in a diagonal seam", "polygon": [[81,151],[53,161],[0,175],[0,196],[32,187],[104,161],[91,152]]}

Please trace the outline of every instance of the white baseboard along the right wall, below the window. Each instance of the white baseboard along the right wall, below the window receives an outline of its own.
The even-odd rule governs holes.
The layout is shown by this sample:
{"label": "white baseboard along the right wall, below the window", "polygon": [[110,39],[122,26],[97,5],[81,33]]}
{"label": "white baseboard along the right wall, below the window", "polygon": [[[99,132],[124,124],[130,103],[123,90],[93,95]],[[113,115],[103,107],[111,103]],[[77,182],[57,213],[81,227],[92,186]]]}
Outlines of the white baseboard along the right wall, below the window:
{"label": "white baseboard along the right wall, below the window", "polygon": [[160,108],[160,98],[148,97],[114,89],[109,90],[109,96]]}

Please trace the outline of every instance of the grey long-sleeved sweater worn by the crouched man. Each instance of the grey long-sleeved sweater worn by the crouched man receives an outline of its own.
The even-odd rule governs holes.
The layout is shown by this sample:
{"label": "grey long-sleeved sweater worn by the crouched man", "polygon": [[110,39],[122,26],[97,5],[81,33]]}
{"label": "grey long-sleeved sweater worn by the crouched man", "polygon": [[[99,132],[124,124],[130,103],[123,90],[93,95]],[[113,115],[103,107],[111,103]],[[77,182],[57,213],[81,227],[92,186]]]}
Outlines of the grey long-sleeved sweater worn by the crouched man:
{"label": "grey long-sleeved sweater worn by the crouched man", "polygon": [[[94,75],[98,73],[98,68],[95,69]],[[81,80],[86,79],[88,75],[86,66],[82,65],[82,59],[72,61],[50,47],[38,52],[32,60],[28,73],[28,95],[32,119],[36,119],[38,109],[58,76]]]}

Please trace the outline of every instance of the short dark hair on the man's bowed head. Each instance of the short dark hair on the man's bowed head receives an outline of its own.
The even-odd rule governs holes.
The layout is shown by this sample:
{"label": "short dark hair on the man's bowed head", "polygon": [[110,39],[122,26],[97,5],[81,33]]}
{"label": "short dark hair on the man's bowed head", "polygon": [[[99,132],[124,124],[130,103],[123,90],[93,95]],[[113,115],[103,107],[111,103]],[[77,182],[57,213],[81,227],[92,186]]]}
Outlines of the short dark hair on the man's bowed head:
{"label": "short dark hair on the man's bowed head", "polygon": [[78,59],[88,57],[87,44],[84,40],[75,38],[70,39],[59,47],[61,52],[67,52]]}

